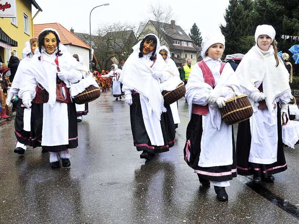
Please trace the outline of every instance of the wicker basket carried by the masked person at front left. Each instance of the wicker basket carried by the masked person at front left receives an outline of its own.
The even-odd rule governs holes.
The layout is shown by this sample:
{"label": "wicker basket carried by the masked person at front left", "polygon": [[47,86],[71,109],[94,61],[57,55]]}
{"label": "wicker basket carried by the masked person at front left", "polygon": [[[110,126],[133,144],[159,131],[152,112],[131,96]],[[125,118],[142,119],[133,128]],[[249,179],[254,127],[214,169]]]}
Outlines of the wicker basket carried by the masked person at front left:
{"label": "wicker basket carried by the masked person at front left", "polygon": [[[84,70],[80,70],[80,71],[84,71]],[[84,71],[84,72],[86,72],[86,71]],[[89,75],[88,72],[86,72],[86,74]],[[89,103],[93,100],[96,100],[97,98],[100,97],[100,95],[101,95],[100,88],[95,87],[94,85],[90,85],[83,92],[76,95],[73,100],[77,104],[85,104],[85,103]]]}

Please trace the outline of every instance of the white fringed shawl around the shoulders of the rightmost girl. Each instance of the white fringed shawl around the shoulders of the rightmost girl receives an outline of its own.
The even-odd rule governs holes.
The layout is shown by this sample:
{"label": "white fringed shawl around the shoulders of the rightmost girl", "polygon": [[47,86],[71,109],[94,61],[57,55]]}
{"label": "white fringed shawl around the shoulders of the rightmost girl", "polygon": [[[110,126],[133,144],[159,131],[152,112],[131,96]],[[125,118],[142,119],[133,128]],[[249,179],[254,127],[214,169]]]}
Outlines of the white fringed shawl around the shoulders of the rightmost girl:
{"label": "white fringed shawl around the shoulders of the rightmost girl", "polygon": [[244,55],[236,70],[240,85],[247,95],[259,91],[257,85],[263,81],[263,92],[269,112],[273,112],[274,103],[282,97],[292,98],[286,67],[281,60],[278,67],[275,65],[273,47],[270,45],[268,52],[262,53],[255,45]]}

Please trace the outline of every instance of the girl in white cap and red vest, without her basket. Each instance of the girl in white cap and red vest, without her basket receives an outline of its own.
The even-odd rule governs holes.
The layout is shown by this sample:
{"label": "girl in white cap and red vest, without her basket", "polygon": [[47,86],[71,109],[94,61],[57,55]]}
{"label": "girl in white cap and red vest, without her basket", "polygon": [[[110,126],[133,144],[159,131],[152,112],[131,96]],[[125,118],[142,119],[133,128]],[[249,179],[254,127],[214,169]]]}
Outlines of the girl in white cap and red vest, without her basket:
{"label": "girl in white cap and red vest, without her basket", "polygon": [[[203,187],[214,185],[217,199],[228,200],[225,187],[237,176],[234,132],[222,121],[219,108],[236,94],[241,94],[231,65],[220,58],[225,48],[221,33],[202,39],[203,60],[194,65],[186,85],[190,122],[187,126],[184,156],[195,170]],[[232,89],[231,89],[231,88]]]}

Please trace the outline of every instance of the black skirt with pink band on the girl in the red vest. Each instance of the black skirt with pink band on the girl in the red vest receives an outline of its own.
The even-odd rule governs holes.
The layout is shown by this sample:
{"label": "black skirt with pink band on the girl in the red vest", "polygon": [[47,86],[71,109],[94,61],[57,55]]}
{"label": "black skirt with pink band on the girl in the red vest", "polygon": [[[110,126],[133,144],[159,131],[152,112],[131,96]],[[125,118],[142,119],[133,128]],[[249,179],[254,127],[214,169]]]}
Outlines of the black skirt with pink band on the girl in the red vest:
{"label": "black skirt with pink band on the girl in the red vest", "polygon": [[[192,114],[190,122],[187,126],[187,141],[184,147],[184,160],[202,179],[221,182],[231,180],[233,177],[237,176],[233,126],[231,129],[233,143],[233,164],[226,166],[200,167],[198,162],[201,152],[200,143],[202,139],[202,115]],[[218,141],[221,140],[218,139]]]}

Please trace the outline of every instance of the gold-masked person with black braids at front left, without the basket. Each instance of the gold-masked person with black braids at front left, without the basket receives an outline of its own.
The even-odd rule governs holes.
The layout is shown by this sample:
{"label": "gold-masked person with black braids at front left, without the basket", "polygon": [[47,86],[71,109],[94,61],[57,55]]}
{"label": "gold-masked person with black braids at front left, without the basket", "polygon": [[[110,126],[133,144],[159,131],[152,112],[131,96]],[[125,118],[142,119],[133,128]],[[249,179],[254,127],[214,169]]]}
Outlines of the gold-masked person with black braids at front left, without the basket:
{"label": "gold-masked person with black braids at front left, without the basket", "polygon": [[[50,152],[52,168],[68,167],[68,149],[78,146],[75,103],[69,88],[82,78],[80,63],[60,43],[58,32],[44,29],[28,68],[24,70],[19,96],[26,108],[31,107],[33,148],[42,146]],[[32,106],[31,106],[31,100]]]}

